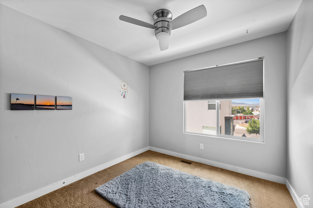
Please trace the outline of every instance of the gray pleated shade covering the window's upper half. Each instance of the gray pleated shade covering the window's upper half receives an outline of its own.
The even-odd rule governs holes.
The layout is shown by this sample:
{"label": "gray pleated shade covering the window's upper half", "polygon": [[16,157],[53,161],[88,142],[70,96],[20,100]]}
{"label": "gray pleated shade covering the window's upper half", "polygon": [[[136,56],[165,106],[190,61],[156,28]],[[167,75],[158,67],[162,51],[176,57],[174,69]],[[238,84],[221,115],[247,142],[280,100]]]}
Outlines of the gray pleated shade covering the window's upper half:
{"label": "gray pleated shade covering the window's upper half", "polygon": [[263,97],[263,58],[184,72],[184,100]]}

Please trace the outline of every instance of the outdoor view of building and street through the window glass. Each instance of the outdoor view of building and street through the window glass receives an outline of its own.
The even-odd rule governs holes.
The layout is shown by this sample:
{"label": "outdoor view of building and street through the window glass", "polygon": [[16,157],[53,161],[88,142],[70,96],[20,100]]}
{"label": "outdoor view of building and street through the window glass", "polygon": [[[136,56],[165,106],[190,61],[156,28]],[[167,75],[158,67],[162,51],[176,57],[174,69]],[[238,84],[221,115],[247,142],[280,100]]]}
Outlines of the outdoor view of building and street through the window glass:
{"label": "outdoor view of building and street through the window glass", "polygon": [[186,101],[185,107],[186,132],[260,138],[260,99]]}

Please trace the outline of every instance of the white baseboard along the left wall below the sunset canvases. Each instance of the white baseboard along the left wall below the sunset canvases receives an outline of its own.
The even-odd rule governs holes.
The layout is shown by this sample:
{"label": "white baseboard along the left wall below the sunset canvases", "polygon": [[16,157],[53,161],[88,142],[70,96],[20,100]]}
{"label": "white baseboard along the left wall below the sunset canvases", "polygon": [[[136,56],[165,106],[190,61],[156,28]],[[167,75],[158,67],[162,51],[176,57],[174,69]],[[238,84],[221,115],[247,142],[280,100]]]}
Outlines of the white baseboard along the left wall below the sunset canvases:
{"label": "white baseboard along the left wall below the sunset canvases", "polygon": [[29,194],[20,196],[18,198],[15,198],[13,200],[8,201],[8,202],[4,202],[3,204],[0,205],[0,208],[14,208],[16,206],[22,205],[22,204],[24,204],[24,203],[26,203],[28,201],[34,200],[34,199],[36,199],[36,198],[38,198],[40,196],[48,194],[51,191],[57,190],[57,189],[65,186],[65,185],[69,185],[70,183],[73,183],[73,182],[75,182],[77,180],[85,178],[88,175],[94,174],[94,173],[96,173],[96,172],[98,172],[100,170],[103,170],[103,169],[108,168],[108,167],[110,167],[112,165],[120,163],[120,162],[122,162],[124,160],[127,160],[127,159],[133,157],[133,156],[139,155],[139,154],[141,154],[141,153],[143,153],[143,152],[145,152],[147,150],[149,150],[149,147],[145,147],[145,148],[143,148],[141,150],[137,150],[135,152],[132,152],[132,153],[130,153],[128,155],[124,155],[124,156],[122,156],[120,158],[117,158],[117,159],[112,160],[110,162],[107,162],[105,164],[99,165],[97,167],[94,167],[92,169],[86,170],[86,171],[81,172],[79,174],[73,175],[73,176],[71,176],[69,178],[66,178],[64,180],[60,180],[60,181],[58,181],[56,183],[53,183],[53,184],[51,184],[49,186],[46,186],[46,187],[42,188],[42,189],[33,191],[33,192],[29,193]]}

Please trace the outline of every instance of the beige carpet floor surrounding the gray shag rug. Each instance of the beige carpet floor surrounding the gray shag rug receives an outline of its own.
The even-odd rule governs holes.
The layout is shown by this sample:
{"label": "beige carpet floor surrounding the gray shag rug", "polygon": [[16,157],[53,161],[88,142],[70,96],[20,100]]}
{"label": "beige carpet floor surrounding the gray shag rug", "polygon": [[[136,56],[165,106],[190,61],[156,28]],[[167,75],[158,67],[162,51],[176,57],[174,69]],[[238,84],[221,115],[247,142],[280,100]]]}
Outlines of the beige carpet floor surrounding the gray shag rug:
{"label": "beige carpet floor surrounding the gray shag rug", "polygon": [[146,160],[246,190],[251,196],[251,208],[297,208],[284,184],[216,168],[210,165],[204,165],[202,163],[191,161],[192,164],[189,165],[180,162],[182,158],[150,150],[72,184],[66,185],[35,200],[29,201],[18,206],[18,208],[115,207],[96,194],[95,188]]}

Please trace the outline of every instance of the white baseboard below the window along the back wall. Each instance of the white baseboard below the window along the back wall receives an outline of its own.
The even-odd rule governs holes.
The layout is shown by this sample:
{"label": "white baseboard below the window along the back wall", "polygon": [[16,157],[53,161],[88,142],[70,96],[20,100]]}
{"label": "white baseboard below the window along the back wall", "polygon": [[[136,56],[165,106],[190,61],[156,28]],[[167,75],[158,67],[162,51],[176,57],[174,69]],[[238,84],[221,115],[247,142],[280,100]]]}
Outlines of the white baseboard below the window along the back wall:
{"label": "white baseboard below the window along the back wall", "polygon": [[265,179],[265,180],[270,180],[270,181],[274,181],[277,183],[281,183],[281,184],[285,184],[286,183],[286,179],[283,177],[279,177],[276,175],[269,175],[266,173],[262,173],[262,172],[258,172],[258,171],[254,171],[254,170],[249,170],[249,169],[244,169],[244,168],[239,168],[233,165],[227,165],[227,164],[223,164],[223,163],[219,163],[219,162],[215,162],[212,160],[205,160],[202,158],[198,158],[198,157],[193,157],[193,156],[189,156],[189,155],[184,155],[181,153],[177,153],[177,152],[172,152],[172,151],[168,151],[168,150],[162,150],[159,148],[155,148],[155,147],[150,147],[150,150],[155,151],[155,152],[160,152],[163,154],[167,154],[167,155],[172,155],[175,157],[180,157],[186,160],[192,160],[195,162],[199,162],[199,163],[203,163],[203,164],[207,164],[207,165],[212,165],[214,167],[218,167],[218,168],[223,168],[226,170],[232,170],[238,173],[242,173],[245,175],[251,175],[257,178],[261,178],[261,179]]}

